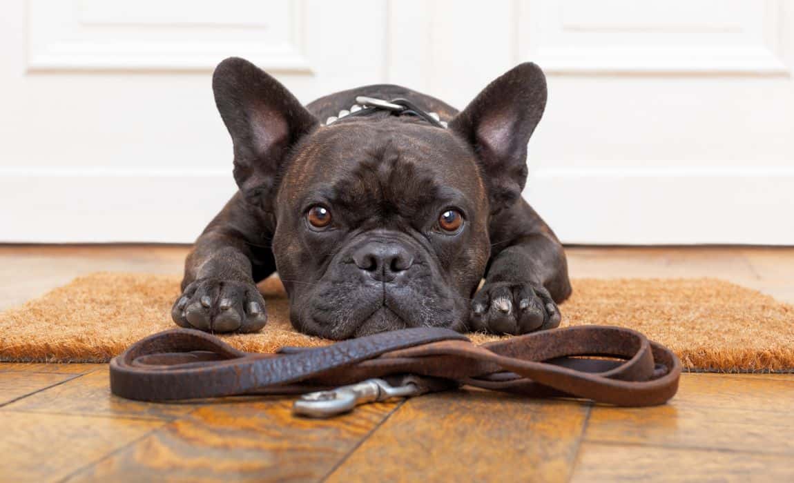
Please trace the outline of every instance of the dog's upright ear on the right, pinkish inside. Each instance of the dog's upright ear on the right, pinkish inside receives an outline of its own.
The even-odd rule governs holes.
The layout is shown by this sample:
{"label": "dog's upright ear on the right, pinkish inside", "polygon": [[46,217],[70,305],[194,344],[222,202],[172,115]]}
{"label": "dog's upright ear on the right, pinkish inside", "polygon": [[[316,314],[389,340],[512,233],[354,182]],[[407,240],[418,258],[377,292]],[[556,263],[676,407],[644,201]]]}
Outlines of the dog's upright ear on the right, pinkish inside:
{"label": "dog's upright ear on the right, pinkish inside", "polygon": [[480,161],[491,212],[510,205],[526,184],[526,144],[541,120],[545,76],[534,63],[522,63],[491,82],[449,122],[472,144]]}

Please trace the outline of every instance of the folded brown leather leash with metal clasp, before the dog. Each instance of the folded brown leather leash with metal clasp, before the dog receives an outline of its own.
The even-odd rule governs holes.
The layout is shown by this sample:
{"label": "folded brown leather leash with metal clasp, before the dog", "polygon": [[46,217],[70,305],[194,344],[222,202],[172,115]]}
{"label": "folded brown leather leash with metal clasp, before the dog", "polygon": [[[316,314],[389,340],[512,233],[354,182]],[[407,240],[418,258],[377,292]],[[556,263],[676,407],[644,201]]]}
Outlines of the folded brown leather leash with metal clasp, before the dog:
{"label": "folded brown leather leash with metal clasp, before the dog", "polygon": [[303,393],[295,412],[324,417],[459,385],[650,406],[673,397],[680,372],[669,349],[611,326],[557,328],[480,346],[449,329],[409,328],[277,354],[238,351],[214,335],[179,328],[113,358],[110,389],[138,401]]}

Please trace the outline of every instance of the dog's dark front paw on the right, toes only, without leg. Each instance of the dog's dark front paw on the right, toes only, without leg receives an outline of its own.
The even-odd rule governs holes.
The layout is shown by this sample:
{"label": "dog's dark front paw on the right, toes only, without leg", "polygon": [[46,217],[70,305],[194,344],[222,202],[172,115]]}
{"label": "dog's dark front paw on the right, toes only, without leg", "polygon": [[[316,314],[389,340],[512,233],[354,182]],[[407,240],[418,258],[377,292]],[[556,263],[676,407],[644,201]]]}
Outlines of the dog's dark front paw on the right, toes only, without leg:
{"label": "dog's dark front paw on the right, toes only, without leg", "polygon": [[560,310],[543,286],[485,282],[472,300],[472,330],[526,334],[560,325]]}

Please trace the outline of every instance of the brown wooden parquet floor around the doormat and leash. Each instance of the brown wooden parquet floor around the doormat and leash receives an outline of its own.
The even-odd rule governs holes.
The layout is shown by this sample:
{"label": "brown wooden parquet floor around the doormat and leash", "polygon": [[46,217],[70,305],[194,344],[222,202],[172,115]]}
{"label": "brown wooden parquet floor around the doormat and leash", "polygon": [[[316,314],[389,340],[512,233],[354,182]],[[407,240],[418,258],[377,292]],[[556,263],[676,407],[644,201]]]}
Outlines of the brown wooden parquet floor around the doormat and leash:
{"label": "brown wooden parquet floor around the doormat and leash", "polygon": [[[731,280],[794,303],[794,249],[570,248],[573,277]],[[184,247],[0,247],[0,309]],[[684,374],[665,406],[458,391],[295,419],[284,398],[143,404],[101,364],[0,364],[0,481],[794,481],[794,374]]]}

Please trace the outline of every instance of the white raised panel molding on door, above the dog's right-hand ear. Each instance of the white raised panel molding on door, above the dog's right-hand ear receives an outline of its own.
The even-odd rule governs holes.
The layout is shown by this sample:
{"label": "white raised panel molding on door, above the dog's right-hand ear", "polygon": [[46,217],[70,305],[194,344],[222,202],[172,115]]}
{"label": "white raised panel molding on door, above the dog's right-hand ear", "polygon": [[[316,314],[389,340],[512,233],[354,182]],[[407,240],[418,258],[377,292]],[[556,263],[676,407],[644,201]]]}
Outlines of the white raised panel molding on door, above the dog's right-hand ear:
{"label": "white raised panel molding on door, above the dog's right-hand ear", "polygon": [[665,27],[632,25],[619,18],[614,25],[567,25],[563,5],[534,0],[517,6],[519,56],[549,74],[791,74],[781,52],[779,0],[750,3],[756,9],[751,18],[741,17],[741,8],[727,12],[736,16],[730,27],[688,19]]}

